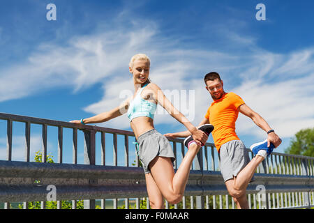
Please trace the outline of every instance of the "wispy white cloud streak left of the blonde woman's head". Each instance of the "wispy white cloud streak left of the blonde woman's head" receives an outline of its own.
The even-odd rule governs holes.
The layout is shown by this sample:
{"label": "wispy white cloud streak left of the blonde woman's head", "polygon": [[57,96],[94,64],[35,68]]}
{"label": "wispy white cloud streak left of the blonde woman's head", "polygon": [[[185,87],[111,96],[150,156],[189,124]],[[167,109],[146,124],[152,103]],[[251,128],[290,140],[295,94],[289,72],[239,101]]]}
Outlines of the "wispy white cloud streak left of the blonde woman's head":
{"label": "wispy white cloud streak left of the blonde woman's head", "polygon": [[[147,46],[154,30],[108,31],[72,38],[67,46],[41,44],[27,61],[0,70],[0,102],[59,86],[74,91],[128,72],[130,56]],[[136,48],[135,48],[136,46]]]}

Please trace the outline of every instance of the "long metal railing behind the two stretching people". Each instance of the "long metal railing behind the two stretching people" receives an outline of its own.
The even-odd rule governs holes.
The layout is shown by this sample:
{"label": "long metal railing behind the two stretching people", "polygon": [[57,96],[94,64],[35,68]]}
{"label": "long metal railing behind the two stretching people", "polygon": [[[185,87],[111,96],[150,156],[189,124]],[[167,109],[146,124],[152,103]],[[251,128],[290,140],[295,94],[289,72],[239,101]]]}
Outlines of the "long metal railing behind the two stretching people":
{"label": "long metal railing behind the two stretching people", "polygon": [[[76,125],[63,121],[17,116],[0,113],[0,120],[6,122],[6,159],[0,160],[0,203],[10,208],[10,203],[40,201],[40,208],[46,208],[48,185],[56,188],[57,208],[61,201],[71,201],[77,208],[78,200],[84,200],[84,208],[149,208],[144,171],[135,156],[134,167],[130,164],[130,153],[135,153],[133,132],[101,128],[94,125]],[[24,161],[13,161],[13,123],[24,123]],[[31,127],[41,128],[42,162],[30,162]],[[47,163],[47,128],[57,128],[57,163]],[[63,163],[63,130],[70,129],[72,137],[73,162]],[[84,164],[77,164],[78,133],[84,132]],[[100,142],[96,142],[100,134]],[[111,134],[112,137],[108,137]],[[119,137],[118,139],[118,136]],[[107,140],[112,139],[112,148]],[[183,139],[170,139],[176,155],[174,169],[186,153]],[[100,144],[100,164],[96,164],[96,144]],[[119,144],[119,146],[118,146]],[[122,146],[121,146],[122,144]],[[112,165],[106,163],[107,152],[112,150]],[[119,153],[124,155],[118,156]],[[251,151],[248,153],[252,157]],[[118,165],[118,157],[124,157],[124,164]],[[214,144],[207,143],[200,149],[190,170],[184,199],[165,208],[235,208],[227,193],[219,171],[219,154]],[[246,194],[250,208],[311,208],[314,206],[314,157],[272,153],[265,159],[254,175]],[[121,162],[120,162],[121,163]],[[112,201],[112,206],[106,206]],[[144,202],[145,201],[145,202]],[[134,203],[134,204],[133,204]]]}

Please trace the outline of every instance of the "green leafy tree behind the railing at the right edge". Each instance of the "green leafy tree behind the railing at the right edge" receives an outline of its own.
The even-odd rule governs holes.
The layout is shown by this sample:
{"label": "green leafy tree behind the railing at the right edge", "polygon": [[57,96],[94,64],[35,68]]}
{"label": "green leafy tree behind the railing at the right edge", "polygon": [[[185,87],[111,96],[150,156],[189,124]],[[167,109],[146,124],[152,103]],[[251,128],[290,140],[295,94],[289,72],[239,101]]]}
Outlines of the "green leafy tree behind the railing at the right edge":
{"label": "green leafy tree behind the railing at the right edge", "polygon": [[314,128],[300,130],[290,141],[285,153],[314,156]]}

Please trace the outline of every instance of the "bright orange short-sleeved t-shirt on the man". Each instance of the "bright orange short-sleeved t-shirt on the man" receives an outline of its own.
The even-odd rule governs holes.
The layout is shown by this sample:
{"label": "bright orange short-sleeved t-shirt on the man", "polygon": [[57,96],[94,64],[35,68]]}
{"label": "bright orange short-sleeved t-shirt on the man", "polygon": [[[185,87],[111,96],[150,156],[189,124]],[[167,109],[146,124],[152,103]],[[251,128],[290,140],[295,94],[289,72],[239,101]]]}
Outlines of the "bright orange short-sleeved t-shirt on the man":
{"label": "bright orange short-sleeved t-shirt on the man", "polygon": [[214,144],[219,152],[220,146],[228,141],[239,140],[235,132],[235,122],[237,121],[240,105],[244,104],[244,100],[233,92],[225,93],[219,100],[214,100],[207,110],[205,118],[209,119],[209,123],[214,125],[211,132]]}

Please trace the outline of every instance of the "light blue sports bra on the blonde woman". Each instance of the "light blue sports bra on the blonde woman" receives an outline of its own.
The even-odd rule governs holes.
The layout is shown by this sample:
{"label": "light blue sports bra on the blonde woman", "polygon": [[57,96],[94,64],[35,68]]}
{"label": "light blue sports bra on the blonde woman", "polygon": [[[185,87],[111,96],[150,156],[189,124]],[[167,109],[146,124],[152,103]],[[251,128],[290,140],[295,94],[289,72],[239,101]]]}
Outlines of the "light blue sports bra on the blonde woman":
{"label": "light blue sports bra on the blonde woman", "polygon": [[154,119],[157,105],[153,102],[149,102],[148,100],[144,100],[141,97],[141,93],[144,90],[145,86],[147,86],[147,84],[142,86],[142,88],[137,91],[135,98],[130,101],[127,112],[130,121],[132,121],[133,118],[137,118],[140,116],[147,116],[151,119]]}

